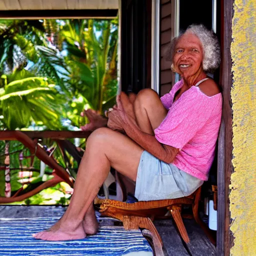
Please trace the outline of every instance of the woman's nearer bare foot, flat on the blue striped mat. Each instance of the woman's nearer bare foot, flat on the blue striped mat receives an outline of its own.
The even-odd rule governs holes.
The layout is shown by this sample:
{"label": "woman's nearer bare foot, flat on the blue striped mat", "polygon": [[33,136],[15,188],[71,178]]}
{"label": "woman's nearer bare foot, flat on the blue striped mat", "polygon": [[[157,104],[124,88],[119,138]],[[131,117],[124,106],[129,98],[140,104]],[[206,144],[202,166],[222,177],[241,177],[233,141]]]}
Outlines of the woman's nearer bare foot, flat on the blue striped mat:
{"label": "woman's nearer bare foot, flat on the blue striped mat", "polygon": [[[35,239],[47,240],[47,241],[65,241],[65,240],[77,240],[86,237],[81,222],[70,222],[59,220],[51,228],[32,234]],[[57,228],[58,226],[58,228]]]}

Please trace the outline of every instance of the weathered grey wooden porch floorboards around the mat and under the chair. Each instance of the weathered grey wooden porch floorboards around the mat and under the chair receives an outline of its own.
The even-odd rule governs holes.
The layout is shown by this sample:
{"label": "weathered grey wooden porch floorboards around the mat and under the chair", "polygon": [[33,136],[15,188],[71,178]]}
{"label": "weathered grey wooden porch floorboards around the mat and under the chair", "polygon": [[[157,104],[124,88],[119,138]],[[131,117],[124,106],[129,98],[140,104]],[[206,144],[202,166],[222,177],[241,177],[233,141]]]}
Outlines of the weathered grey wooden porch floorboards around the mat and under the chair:
{"label": "weathered grey wooden porch floorboards around the mat and under the chair", "polygon": [[[61,206],[0,205],[0,218],[60,217],[64,211],[65,207]],[[154,224],[162,237],[166,256],[216,255],[216,248],[210,243],[193,219],[184,219],[184,224],[190,238],[190,243],[188,244],[182,242],[171,219],[156,220]],[[100,225],[109,225],[109,223],[101,222]]]}

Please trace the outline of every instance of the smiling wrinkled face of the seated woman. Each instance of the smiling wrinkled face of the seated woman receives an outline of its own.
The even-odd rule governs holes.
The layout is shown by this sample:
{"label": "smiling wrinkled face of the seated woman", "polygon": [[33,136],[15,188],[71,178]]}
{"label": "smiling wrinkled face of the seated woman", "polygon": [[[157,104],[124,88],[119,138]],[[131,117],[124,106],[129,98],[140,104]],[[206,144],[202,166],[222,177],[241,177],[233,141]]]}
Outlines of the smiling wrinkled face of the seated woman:
{"label": "smiling wrinkled face of the seated woman", "polygon": [[202,69],[203,50],[199,38],[191,33],[182,35],[177,41],[173,65],[177,73],[183,77],[197,76]]}

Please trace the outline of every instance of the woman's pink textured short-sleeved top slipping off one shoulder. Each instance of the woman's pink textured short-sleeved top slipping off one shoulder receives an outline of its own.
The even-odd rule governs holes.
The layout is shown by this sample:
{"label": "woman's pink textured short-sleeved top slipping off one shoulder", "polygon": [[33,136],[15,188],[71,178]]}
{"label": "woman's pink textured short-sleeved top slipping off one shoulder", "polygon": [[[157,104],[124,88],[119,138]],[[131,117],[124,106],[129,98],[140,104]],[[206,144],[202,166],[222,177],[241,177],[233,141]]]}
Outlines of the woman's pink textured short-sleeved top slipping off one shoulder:
{"label": "woman's pink textured short-sleeved top slipping off one shoulder", "polygon": [[154,130],[155,138],[179,148],[172,164],[192,176],[207,180],[220,126],[222,96],[221,93],[207,96],[198,86],[191,86],[173,102],[182,85],[182,80],[176,82],[170,92],[161,97],[168,113]]}

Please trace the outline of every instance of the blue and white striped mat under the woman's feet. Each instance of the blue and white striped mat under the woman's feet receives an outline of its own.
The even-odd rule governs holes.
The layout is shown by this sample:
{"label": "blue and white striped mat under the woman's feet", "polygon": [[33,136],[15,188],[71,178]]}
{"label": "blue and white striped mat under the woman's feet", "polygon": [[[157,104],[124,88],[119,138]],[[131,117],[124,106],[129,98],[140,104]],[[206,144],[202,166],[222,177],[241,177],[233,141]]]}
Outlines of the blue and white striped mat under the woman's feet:
{"label": "blue and white striped mat under the woman's feet", "polygon": [[31,236],[34,232],[50,227],[57,219],[58,217],[0,218],[0,256],[153,255],[139,230],[126,231],[122,226],[100,226],[97,234],[73,241],[42,241]]}

